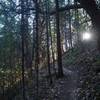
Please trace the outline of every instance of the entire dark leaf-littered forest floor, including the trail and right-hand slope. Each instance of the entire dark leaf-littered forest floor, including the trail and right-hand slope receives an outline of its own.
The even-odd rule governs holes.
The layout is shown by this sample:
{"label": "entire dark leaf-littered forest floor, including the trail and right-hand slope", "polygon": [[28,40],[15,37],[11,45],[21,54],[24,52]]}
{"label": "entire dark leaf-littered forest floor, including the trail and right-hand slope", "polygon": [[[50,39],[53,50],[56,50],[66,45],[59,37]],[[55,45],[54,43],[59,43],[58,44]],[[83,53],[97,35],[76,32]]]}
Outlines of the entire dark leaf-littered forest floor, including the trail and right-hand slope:
{"label": "entire dark leaf-littered forest floor, including the trail and right-hand slope", "polygon": [[[76,49],[65,53],[62,61],[64,77],[57,79],[53,76],[51,86],[48,84],[49,78],[46,77],[47,70],[44,70],[44,68],[40,71],[38,96],[36,94],[35,77],[32,78],[34,81],[31,81],[28,77],[27,100],[100,100],[99,52],[96,49],[86,51]],[[57,66],[57,64],[55,65]],[[33,76],[35,75],[34,73]],[[22,100],[21,92],[17,92],[18,95],[14,96],[15,99],[4,100]]]}

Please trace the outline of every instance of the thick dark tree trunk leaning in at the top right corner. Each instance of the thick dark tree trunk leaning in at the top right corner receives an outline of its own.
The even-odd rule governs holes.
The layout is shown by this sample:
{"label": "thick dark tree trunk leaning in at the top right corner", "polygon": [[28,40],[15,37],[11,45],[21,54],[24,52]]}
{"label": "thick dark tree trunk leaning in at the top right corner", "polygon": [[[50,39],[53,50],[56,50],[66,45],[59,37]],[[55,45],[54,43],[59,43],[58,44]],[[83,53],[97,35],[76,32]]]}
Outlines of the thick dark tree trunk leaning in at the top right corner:
{"label": "thick dark tree trunk leaning in at the top right corner", "polygon": [[86,10],[86,12],[91,17],[95,34],[97,37],[98,49],[100,50],[100,9],[96,4],[96,0],[77,0],[81,6]]}

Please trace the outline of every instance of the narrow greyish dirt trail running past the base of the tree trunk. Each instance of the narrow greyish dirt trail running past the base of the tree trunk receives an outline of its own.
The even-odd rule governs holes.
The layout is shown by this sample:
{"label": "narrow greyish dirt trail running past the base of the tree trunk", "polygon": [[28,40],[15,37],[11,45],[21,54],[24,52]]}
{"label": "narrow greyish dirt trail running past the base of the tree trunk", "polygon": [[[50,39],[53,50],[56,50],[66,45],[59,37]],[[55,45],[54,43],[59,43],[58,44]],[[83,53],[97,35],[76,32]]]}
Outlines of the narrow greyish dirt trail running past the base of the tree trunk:
{"label": "narrow greyish dirt trail running past the base of the tree trunk", "polygon": [[77,100],[77,73],[64,68],[65,78],[62,80],[60,100]]}

